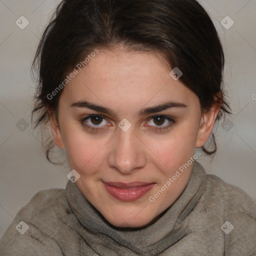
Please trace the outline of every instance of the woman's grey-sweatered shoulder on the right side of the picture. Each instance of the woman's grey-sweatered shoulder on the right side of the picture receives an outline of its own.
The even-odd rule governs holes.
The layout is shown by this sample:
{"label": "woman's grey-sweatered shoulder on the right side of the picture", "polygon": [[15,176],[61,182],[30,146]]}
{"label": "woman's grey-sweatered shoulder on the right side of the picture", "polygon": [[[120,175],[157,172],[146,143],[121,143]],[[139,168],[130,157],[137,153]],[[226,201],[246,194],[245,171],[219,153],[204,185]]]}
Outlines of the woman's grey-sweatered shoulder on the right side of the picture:
{"label": "woman's grey-sweatered shoulder on the right side of the picture", "polygon": [[216,175],[207,174],[205,182],[205,209],[218,219],[229,253],[255,252],[256,201]]}

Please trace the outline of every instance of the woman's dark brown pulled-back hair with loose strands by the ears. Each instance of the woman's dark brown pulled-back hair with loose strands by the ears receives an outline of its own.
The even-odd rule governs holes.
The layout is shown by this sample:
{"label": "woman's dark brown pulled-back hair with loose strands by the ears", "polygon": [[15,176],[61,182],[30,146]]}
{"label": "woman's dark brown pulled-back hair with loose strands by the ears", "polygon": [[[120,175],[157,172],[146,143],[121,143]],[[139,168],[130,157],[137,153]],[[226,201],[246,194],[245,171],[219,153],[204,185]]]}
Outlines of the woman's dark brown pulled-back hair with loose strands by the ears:
{"label": "woman's dark brown pulled-back hair with loose strands by the ears", "polygon": [[[224,97],[222,45],[207,12],[196,0],[62,0],[39,42],[32,70],[38,72],[33,114],[34,128],[49,121],[48,106],[57,119],[61,91],[47,95],[95,48],[112,49],[123,45],[129,50],[157,51],[170,67],[182,71],[179,78],[199,98],[201,110],[221,93],[217,120],[230,113]],[[230,109],[231,110],[231,109]],[[214,149],[216,142],[212,133]],[[45,145],[46,157],[54,146]],[[46,140],[45,140],[46,141]],[[44,142],[45,142],[44,141]]]}

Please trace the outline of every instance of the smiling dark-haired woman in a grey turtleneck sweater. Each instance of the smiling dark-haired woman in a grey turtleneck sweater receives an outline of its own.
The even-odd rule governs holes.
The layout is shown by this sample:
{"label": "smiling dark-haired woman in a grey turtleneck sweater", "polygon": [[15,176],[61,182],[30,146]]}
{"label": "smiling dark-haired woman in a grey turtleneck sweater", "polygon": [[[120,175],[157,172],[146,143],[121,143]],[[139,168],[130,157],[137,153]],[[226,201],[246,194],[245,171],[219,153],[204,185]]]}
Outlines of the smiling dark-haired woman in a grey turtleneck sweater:
{"label": "smiling dark-haired woman in a grey turtleneck sweater", "polygon": [[50,123],[71,171],[17,213],[0,255],[256,253],[255,202],[196,161],[230,113],[198,2],[63,0],[36,64],[35,127]]}

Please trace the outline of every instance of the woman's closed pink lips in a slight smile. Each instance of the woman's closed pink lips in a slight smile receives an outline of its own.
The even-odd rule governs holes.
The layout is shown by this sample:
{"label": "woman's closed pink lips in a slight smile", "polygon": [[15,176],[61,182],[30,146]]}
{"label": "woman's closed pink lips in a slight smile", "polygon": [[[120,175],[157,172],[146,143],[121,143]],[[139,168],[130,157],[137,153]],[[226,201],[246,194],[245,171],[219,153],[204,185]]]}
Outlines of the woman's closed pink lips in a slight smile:
{"label": "woman's closed pink lips in a slight smile", "polygon": [[114,198],[121,201],[133,201],[152,189],[155,183],[134,181],[130,183],[103,182],[106,191]]}

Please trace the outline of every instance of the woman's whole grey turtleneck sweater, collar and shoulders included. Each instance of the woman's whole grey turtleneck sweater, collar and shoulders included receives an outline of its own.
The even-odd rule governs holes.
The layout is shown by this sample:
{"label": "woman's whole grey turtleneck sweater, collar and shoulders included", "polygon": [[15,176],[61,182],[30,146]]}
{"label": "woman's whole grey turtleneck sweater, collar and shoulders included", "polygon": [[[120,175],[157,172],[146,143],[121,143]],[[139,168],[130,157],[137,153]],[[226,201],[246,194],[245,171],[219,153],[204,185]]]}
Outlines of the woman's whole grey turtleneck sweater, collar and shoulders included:
{"label": "woman's whole grey turtleneck sweater, collar and shoulders included", "polygon": [[65,189],[37,192],[18,211],[0,239],[0,256],[10,255],[252,256],[256,202],[194,161],[187,186],[155,221],[118,228],[68,181]]}

